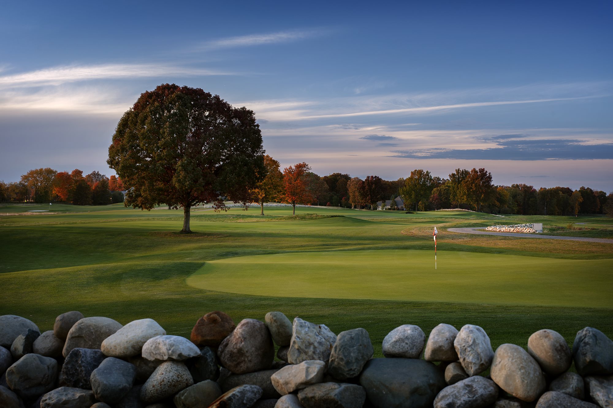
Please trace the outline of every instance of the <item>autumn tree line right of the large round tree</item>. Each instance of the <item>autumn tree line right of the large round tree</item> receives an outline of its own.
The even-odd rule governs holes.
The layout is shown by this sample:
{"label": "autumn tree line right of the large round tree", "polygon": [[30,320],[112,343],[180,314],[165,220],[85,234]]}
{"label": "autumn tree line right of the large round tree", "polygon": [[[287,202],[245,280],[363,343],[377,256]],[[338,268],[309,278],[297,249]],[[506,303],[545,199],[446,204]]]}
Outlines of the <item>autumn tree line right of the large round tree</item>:
{"label": "autumn tree line right of the large round tree", "polygon": [[264,156],[267,176],[254,190],[254,201],[340,206],[376,210],[378,202],[390,200],[390,210],[397,210],[395,198],[401,197],[406,210],[428,211],[462,208],[485,213],[524,215],[603,214],[613,215],[613,193],[581,187],[541,187],[528,184],[495,186],[492,173],[485,168],[457,168],[449,178],[432,176],[416,169],[407,178],[388,181],[379,176],[364,179],[348,174],[318,176],[305,162],[280,170],[279,162]]}

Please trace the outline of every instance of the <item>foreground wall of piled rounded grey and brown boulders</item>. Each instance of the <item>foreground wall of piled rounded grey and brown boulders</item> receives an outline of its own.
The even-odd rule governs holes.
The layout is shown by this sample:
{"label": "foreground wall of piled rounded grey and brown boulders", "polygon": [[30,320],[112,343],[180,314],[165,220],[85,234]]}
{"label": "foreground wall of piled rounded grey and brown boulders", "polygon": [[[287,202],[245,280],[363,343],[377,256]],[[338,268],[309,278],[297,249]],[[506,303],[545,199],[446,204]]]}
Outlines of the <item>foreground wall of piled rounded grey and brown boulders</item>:
{"label": "foreground wall of piled rounded grey and brown boulders", "polygon": [[152,319],[123,326],[67,312],[41,334],[30,320],[3,315],[0,407],[613,406],[613,341],[595,328],[580,330],[572,350],[544,329],[527,350],[494,351],[476,325],[441,323],[426,336],[406,324],[387,334],[383,355],[372,358],[363,328],[335,334],[281,312],[238,325],[210,312],[190,339]]}

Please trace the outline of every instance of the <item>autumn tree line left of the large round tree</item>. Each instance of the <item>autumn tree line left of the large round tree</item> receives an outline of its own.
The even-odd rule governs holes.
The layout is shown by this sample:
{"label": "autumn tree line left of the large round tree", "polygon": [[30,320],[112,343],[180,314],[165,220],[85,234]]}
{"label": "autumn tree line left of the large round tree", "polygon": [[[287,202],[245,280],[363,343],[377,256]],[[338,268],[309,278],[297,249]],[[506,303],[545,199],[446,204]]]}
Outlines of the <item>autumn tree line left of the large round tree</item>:
{"label": "autumn tree line left of the large round tree", "polygon": [[109,205],[123,202],[123,190],[121,179],[115,175],[109,178],[94,171],[83,176],[78,168],[69,173],[41,167],[22,175],[20,181],[0,181],[0,202]]}

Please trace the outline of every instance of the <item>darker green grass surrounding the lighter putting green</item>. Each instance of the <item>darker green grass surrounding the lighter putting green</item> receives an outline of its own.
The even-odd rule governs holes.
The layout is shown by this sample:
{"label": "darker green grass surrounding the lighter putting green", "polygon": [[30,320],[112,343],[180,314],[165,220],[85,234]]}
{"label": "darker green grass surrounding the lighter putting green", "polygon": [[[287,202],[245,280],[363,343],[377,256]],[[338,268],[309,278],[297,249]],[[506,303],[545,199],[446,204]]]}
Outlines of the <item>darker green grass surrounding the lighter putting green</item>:
{"label": "darker green grass surrounding the lighter putting green", "polygon": [[[0,208],[0,214],[5,208]],[[23,206],[15,206],[5,213],[24,210]],[[0,216],[0,314],[23,315],[36,322],[41,330],[49,330],[61,312],[80,310],[85,315],[109,316],[123,324],[153,317],[169,334],[188,336],[198,317],[208,311],[226,311],[238,322],[246,317],[263,319],[266,312],[280,310],[290,318],[299,315],[313,322],[326,323],[335,333],[364,327],[371,335],[377,355],[380,355],[385,334],[405,323],[417,324],[425,333],[441,322],[457,328],[466,323],[477,324],[487,331],[494,347],[503,342],[525,346],[528,336],[541,328],[559,331],[570,343],[577,330],[585,326],[598,327],[613,336],[613,309],[604,297],[612,289],[611,272],[607,271],[598,272],[601,280],[596,279],[593,283],[600,284],[588,288],[593,293],[590,307],[581,301],[581,297],[588,298],[588,295],[575,295],[572,291],[566,296],[578,296],[579,300],[571,306],[568,303],[567,306],[555,307],[538,304],[530,298],[538,298],[542,287],[531,286],[528,278],[519,282],[522,285],[519,303],[522,304],[515,305],[479,300],[478,297],[484,293],[479,289],[480,281],[475,276],[466,278],[466,286],[462,289],[466,298],[462,301],[452,301],[441,293],[444,292],[441,282],[432,282],[432,296],[427,301],[321,298],[316,291],[306,297],[294,293],[300,289],[299,282],[283,285],[284,292],[278,292],[276,297],[219,292],[211,290],[212,284],[202,288],[186,284],[186,279],[207,262],[235,260],[243,256],[302,253],[315,256],[335,251],[345,255],[349,254],[348,251],[373,251],[385,255],[385,252],[374,251],[394,249],[432,251],[433,225],[500,223],[500,217],[487,214],[463,211],[405,214],[400,211],[297,208],[299,218],[291,219],[291,208],[265,208],[266,217],[273,222],[219,222],[224,218],[231,221],[229,217],[234,215],[251,216],[255,220],[259,217],[259,208],[246,212],[231,210],[229,213],[194,211],[192,230],[198,233],[180,235],[176,232],[181,229],[182,217],[180,211],[175,210],[161,208],[147,212],[120,205],[89,210],[54,205],[53,210],[64,213]],[[309,213],[316,213],[318,217],[307,216]],[[330,217],[333,215],[342,217]],[[611,224],[601,217],[572,218],[573,222]],[[555,217],[541,221],[543,219],[537,217],[531,221],[530,217],[517,217],[511,224],[547,224],[550,220],[563,226],[570,222]],[[403,230],[409,231],[409,235],[403,234]],[[458,251],[471,256],[528,254],[530,260],[539,265],[547,265],[549,260],[603,259],[606,262],[613,259],[613,250],[608,244],[589,243],[584,246],[586,243],[563,241],[555,246],[557,241],[554,240],[536,243],[506,237],[460,238],[457,237],[460,234],[439,230],[438,249],[441,254],[444,251]],[[588,252],[588,247],[594,251]],[[385,256],[375,258],[372,268],[367,268],[373,276],[383,279],[387,271],[397,267],[377,261],[386,259]],[[242,266],[245,271],[248,267]],[[532,271],[533,279],[542,279],[544,275],[541,272],[544,271],[544,274],[553,276],[552,282],[569,290],[572,282],[566,284],[569,277],[565,273],[568,271],[543,268]],[[317,265],[316,269],[319,274],[335,271],[334,266],[326,262]],[[492,270],[500,273],[501,268],[493,266]],[[270,271],[274,268],[271,267]],[[557,274],[558,271],[563,273]],[[530,270],[523,273],[530,276]],[[587,284],[595,279],[589,267],[579,268],[574,274],[576,278],[573,279],[582,278]],[[215,283],[221,283],[225,278],[216,276]],[[280,287],[275,279],[284,279],[283,270],[268,275],[261,283],[262,287]],[[359,285],[360,279],[354,281]],[[427,284],[427,277],[421,284]],[[245,291],[245,288],[238,290],[237,287],[233,287],[234,291]],[[505,287],[509,292],[501,293],[512,297],[517,289],[512,279]],[[345,290],[343,287],[332,289],[340,294]],[[406,292],[406,288],[392,289],[397,293]],[[473,299],[470,299],[471,295]]]}

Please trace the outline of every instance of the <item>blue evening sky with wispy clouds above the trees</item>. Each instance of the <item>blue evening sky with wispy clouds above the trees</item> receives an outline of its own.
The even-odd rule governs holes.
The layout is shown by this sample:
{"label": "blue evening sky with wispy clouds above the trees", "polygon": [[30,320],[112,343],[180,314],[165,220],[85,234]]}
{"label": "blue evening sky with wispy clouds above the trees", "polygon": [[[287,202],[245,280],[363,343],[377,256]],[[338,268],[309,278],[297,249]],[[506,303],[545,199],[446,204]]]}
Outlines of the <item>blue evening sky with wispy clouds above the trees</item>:
{"label": "blue evening sky with wispy clouds above the trees", "polygon": [[613,2],[17,2],[0,11],[0,180],[115,174],[161,83],[253,110],[281,167],[484,167],[613,191]]}

